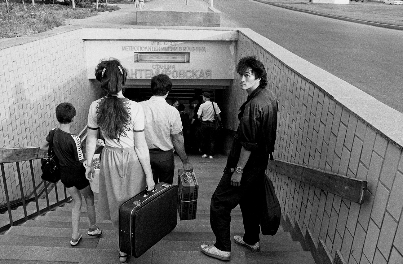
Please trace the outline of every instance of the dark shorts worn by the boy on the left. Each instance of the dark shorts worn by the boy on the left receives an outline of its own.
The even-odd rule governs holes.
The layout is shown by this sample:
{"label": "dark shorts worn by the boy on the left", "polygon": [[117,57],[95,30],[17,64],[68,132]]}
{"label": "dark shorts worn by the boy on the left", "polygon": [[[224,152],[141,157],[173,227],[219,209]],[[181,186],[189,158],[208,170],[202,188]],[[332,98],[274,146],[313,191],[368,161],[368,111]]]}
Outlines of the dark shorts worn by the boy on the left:
{"label": "dark shorts worn by the boy on the left", "polygon": [[89,186],[89,181],[85,177],[85,167],[65,167],[60,166],[60,181],[66,186],[71,188],[75,186],[78,190],[82,190]]}

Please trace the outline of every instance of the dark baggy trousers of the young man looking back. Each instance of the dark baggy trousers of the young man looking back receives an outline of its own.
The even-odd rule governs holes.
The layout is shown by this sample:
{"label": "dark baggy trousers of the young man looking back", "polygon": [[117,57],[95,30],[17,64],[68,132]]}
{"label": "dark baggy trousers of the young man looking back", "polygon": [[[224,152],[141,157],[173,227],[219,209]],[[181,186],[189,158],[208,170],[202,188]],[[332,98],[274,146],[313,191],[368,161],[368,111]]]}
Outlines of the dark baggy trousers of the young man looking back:
{"label": "dark baggy trousers of the young man looking back", "polygon": [[241,186],[231,186],[231,175],[233,172],[224,172],[216,191],[211,198],[210,225],[216,235],[214,246],[222,251],[231,251],[231,210],[238,204],[241,207],[243,227],[245,233],[243,241],[253,245],[260,241],[260,216],[261,201],[259,199],[260,186],[262,184],[264,170],[261,168],[258,173],[254,171],[248,174],[244,170],[241,179]]}

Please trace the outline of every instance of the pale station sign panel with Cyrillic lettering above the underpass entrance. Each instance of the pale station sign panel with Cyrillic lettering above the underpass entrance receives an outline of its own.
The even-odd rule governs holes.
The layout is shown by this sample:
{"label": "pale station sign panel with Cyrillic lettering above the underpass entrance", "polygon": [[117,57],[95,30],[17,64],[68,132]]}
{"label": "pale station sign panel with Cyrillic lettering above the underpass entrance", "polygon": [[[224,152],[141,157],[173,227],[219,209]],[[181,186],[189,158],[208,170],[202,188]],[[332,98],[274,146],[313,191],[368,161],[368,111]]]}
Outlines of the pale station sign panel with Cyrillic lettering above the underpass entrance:
{"label": "pale station sign panel with Cyrillic lettering above the underpass entrance", "polygon": [[150,79],[166,74],[172,79],[233,79],[235,41],[87,40],[88,78],[102,59],[116,58],[127,78]]}

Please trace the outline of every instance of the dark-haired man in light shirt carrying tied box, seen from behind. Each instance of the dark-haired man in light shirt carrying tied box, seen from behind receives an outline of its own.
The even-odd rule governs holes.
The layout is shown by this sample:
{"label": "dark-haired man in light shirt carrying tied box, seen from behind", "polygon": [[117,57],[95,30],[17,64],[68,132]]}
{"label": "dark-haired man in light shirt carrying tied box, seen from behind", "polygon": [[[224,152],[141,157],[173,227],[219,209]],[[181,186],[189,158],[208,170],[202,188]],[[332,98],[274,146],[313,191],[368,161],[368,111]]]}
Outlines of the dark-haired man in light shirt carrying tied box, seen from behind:
{"label": "dark-haired man in light shirt carrying tied box, seen from behind", "polygon": [[171,79],[166,74],[158,74],[151,79],[153,96],[140,102],[144,110],[145,141],[150,151],[150,163],[155,184],[172,184],[174,177],[174,153],[178,153],[185,171],[193,171],[185,153],[185,144],[181,136],[182,122],[179,111],[166,102],[172,90]]}

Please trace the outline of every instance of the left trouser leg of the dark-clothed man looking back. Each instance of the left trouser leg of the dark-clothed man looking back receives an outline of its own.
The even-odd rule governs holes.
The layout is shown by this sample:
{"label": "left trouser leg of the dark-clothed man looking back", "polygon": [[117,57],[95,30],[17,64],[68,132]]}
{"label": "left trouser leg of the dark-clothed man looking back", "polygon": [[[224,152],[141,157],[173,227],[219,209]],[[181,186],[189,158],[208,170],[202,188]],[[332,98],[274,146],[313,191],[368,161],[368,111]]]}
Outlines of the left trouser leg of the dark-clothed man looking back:
{"label": "left trouser leg of the dark-clothed man looking back", "polygon": [[242,192],[241,187],[231,186],[231,175],[224,172],[210,205],[210,225],[216,235],[214,246],[222,251],[231,251],[231,210],[238,205]]}

